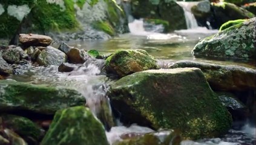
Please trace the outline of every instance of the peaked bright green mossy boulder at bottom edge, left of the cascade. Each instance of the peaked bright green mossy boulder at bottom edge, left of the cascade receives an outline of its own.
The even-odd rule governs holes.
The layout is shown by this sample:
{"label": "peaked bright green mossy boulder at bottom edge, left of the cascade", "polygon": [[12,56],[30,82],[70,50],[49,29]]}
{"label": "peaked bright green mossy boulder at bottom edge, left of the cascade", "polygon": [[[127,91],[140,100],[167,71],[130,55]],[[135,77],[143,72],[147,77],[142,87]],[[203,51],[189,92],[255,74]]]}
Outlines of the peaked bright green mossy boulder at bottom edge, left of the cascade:
{"label": "peaked bright green mossy boulder at bottom edge, left of the cascade", "polygon": [[91,111],[84,106],[76,106],[56,112],[41,144],[108,145],[108,141],[103,125]]}

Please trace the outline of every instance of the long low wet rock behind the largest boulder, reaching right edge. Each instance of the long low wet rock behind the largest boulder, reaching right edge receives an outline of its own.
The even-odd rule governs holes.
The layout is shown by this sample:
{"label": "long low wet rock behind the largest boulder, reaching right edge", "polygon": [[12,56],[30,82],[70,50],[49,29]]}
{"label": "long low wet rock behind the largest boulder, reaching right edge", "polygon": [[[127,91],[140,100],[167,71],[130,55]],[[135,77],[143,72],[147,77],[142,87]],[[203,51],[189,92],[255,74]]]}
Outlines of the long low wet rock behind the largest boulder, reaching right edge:
{"label": "long low wet rock behind the largest boulder, reaching right edge", "polygon": [[180,60],[169,68],[200,68],[212,89],[216,91],[243,91],[256,89],[256,71],[237,65],[217,65],[211,63]]}

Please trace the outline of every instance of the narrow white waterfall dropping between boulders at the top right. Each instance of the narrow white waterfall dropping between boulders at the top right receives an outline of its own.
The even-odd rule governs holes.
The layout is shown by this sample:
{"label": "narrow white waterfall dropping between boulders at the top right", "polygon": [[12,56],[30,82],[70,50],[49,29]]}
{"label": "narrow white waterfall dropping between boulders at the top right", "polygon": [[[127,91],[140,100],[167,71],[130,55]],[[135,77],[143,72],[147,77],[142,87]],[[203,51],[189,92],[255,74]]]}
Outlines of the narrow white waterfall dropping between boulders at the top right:
{"label": "narrow white waterfall dropping between boulders at the top right", "polygon": [[188,29],[193,29],[199,27],[197,25],[197,20],[195,19],[194,14],[191,13],[191,7],[196,5],[198,2],[177,2],[184,11],[186,26]]}

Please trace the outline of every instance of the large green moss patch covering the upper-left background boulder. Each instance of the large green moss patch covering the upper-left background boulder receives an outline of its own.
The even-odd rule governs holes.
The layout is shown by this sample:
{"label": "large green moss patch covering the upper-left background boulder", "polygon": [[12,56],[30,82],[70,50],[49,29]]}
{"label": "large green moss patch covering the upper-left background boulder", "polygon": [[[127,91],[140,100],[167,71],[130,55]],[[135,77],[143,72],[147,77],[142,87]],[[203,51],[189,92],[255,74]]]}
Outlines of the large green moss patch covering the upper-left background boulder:
{"label": "large green moss patch covering the upper-left background boulder", "polygon": [[48,4],[45,0],[39,0],[35,7],[31,10],[33,13],[34,30],[42,31],[62,31],[75,30],[79,27],[79,23],[74,15],[74,2],[64,0],[65,10],[59,5]]}

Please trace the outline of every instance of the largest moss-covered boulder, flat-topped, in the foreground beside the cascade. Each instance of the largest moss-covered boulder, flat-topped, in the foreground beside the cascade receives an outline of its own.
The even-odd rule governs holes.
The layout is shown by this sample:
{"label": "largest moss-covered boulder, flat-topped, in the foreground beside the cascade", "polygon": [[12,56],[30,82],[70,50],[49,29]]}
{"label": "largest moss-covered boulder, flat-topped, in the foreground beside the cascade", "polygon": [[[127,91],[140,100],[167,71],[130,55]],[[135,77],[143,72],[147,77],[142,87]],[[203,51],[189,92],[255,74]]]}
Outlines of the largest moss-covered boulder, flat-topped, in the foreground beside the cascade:
{"label": "largest moss-covered boulder, flat-topped, in the foreground beside the cascade", "polygon": [[185,138],[216,137],[232,123],[199,68],[136,72],[113,83],[108,96],[123,123],[179,129]]}

